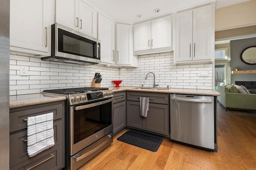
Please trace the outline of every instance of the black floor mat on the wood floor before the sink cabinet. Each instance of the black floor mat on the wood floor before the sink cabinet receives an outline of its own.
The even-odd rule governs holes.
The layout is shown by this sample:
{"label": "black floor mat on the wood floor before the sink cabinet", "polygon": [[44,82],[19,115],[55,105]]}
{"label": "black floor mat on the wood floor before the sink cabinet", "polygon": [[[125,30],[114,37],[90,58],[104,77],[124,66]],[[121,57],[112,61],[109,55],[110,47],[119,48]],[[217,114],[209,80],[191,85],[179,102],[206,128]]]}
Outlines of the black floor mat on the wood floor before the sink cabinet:
{"label": "black floor mat on the wood floor before the sink cabinet", "polygon": [[133,131],[127,131],[122,136],[120,136],[118,141],[134,145],[152,152],[156,152],[162,143],[162,139],[157,137],[152,137],[144,135],[141,133],[136,133]]}

